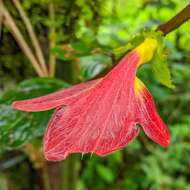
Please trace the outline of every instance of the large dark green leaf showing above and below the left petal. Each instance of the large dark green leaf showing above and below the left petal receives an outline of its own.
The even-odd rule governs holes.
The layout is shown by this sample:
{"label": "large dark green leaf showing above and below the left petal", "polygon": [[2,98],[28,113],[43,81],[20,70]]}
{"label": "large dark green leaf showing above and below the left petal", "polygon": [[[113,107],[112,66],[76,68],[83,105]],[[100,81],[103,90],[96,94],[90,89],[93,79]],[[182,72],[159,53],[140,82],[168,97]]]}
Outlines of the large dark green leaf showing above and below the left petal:
{"label": "large dark green leaf showing above and below the left petal", "polygon": [[34,78],[21,82],[15,89],[0,97],[0,153],[17,149],[29,141],[41,137],[52,111],[26,113],[13,110],[14,100],[33,98],[68,87],[64,81],[51,78]]}

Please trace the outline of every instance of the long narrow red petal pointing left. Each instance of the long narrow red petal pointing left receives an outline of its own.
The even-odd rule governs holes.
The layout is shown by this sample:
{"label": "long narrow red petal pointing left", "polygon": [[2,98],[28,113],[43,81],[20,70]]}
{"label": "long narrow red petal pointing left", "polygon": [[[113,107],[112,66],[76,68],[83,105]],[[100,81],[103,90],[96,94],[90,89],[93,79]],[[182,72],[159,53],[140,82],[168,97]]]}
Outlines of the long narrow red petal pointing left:
{"label": "long narrow red petal pointing left", "polygon": [[66,105],[71,97],[88,90],[93,87],[101,79],[88,81],[86,83],[77,84],[70,88],[51,93],[49,95],[33,98],[29,100],[15,101],[12,107],[22,111],[37,112],[46,111],[62,105]]}

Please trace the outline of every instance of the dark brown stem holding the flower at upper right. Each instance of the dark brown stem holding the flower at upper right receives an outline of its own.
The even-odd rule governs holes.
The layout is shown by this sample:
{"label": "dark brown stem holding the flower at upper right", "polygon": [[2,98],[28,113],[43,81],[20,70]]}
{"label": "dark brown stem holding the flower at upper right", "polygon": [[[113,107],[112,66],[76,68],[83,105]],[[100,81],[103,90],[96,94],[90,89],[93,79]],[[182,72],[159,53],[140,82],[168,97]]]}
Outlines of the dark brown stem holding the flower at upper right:
{"label": "dark brown stem holding the flower at upper right", "polygon": [[190,19],[190,3],[177,15],[171,18],[168,22],[158,26],[157,31],[161,31],[164,36],[179,28],[187,20]]}

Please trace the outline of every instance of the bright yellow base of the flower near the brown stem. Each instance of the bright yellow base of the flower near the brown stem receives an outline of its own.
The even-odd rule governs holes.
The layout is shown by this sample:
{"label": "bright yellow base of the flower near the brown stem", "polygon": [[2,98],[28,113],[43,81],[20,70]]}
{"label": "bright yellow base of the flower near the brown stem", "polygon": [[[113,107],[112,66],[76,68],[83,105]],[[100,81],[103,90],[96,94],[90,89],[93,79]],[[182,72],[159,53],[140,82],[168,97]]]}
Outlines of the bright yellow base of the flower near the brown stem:
{"label": "bright yellow base of the flower near the brown stem", "polygon": [[146,38],[143,43],[135,48],[135,51],[137,51],[137,53],[140,55],[139,65],[150,61],[157,47],[158,42],[156,39]]}

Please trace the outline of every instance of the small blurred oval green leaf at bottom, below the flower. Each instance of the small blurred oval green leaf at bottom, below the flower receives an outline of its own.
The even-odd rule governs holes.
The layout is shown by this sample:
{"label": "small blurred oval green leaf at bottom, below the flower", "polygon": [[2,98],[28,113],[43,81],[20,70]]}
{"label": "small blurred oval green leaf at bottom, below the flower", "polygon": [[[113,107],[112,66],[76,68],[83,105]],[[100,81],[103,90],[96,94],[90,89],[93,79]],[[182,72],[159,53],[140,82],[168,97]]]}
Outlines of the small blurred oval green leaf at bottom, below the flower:
{"label": "small blurred oval green leaf at bottom, below the flower", "polygon": [[107,183],[112,183],[115,178],[114,172],[110,168],[103,165],[97,166],[97,173]]}

